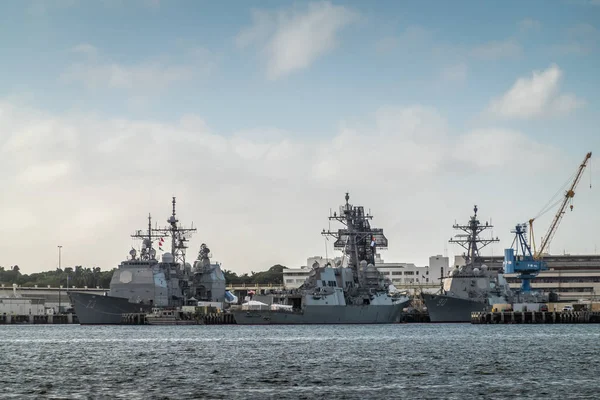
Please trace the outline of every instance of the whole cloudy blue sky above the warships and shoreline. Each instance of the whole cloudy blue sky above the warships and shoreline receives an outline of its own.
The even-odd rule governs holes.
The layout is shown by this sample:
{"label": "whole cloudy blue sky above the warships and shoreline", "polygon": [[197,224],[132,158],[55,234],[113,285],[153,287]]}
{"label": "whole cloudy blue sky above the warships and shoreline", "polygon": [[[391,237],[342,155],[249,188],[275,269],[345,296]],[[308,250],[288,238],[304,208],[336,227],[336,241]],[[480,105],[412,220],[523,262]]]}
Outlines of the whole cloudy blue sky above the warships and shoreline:
{"label": "whole cloudy blue sky above the warships and shoreline", "polygon": [[[238,273],[336,255],[346,192],[386,262],[462,253],[475,204],[501,255],[600,150],[598,0],[5,1],[0,52],[0,265],[23,273],[59,245],[116,267],[172,196],[188,259]],[[553,254],[600,246],[594,155]]]}

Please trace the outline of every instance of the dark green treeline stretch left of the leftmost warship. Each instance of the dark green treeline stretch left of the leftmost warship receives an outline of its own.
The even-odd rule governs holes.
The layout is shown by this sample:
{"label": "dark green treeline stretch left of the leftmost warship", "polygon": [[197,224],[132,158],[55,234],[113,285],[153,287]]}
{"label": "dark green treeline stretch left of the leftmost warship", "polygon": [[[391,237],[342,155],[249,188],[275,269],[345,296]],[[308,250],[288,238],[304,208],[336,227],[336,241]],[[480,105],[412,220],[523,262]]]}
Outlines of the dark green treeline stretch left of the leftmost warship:
{"label": "dark green treeline stretch left of the leftmost warship", "polygon": [[55,271],[36,272],[33,274],[21,274],[19,266],[14,265],[9,269],[0,267],[0,283],[6,286],[12,286],[16,283],[23,287],[33,287],[38,285],[58,287],[96,287],[108,288],[110,279],[112,278],[113,270],[101,271],[99,267],[84,268],[80,265],[75,268],[67,267],[64,269],[56,269]]}

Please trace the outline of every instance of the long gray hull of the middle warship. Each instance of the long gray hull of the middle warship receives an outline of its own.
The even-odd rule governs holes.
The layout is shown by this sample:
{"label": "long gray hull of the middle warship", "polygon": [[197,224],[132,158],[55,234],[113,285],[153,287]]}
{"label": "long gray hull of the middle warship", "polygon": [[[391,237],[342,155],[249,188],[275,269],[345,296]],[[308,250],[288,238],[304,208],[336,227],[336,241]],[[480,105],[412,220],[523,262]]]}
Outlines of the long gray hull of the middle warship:
{"label": "long gray hull of the middle warship", "polygon": [[303,311],[236,310],[239,325],[393,324],[409,302],[389,306],[306,306]]}

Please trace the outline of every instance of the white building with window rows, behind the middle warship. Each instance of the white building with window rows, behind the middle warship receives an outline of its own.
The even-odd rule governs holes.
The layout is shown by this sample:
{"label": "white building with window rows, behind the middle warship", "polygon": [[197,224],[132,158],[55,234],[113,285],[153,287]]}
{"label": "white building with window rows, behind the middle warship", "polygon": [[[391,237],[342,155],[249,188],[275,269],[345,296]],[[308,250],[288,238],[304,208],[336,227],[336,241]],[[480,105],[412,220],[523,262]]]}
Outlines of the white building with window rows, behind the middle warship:
{"label": "white building with window rows, behind the middle warship", "polygon": [[[300,268],[287,268],[283,270],[283,284],[286,289],[300,287],[316,264],[323,267],[327,263],[335,265],[341,262],[341,257],[325,259],[320,256],[310,257],[306,266]],[[415,287],[439,287],[442,274],[448,273],[448,257],[441,255],[429,257],[429,265],[418,267],[412,263],[386,263],[377,255],[375,267],[388,278],[398,289]]]}

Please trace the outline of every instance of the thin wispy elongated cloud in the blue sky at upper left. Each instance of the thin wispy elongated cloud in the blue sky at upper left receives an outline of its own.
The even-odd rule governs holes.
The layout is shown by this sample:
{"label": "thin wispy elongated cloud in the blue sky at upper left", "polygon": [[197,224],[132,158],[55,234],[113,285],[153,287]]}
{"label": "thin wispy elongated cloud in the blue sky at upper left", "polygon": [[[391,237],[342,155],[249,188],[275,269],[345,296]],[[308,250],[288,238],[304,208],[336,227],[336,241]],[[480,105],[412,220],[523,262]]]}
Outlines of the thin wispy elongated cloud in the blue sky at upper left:
{"label": "thin wispy elongated cloud in the blue sky at upper left", "polygon": [[71,51],[85,57],[70,65],[60,80],[89,90],[108,88],[148,94],[207,76],[215,66],[215,58],[205,49],[189,50],[184,63],[153,60],[134,64],[99,57],[99,50],[90,44],[79,44]]}

